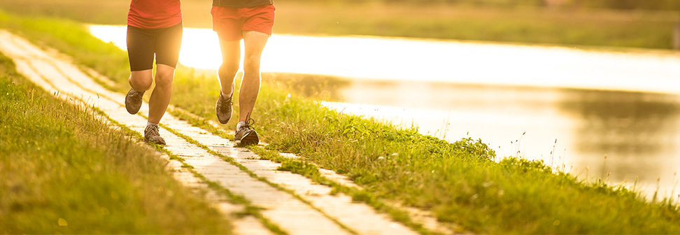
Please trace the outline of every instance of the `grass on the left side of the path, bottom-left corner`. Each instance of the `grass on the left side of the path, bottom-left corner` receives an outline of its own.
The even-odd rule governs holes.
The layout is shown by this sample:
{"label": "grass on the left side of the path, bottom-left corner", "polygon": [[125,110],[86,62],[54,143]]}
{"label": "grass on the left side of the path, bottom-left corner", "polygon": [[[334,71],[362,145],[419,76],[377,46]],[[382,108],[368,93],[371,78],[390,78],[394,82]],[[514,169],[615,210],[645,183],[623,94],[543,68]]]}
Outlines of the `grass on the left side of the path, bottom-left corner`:
{"label": "grass on the left side of the path, bottom-left corner", "polygon": [[0,55],[0,233],[229,234],[160,156]]}

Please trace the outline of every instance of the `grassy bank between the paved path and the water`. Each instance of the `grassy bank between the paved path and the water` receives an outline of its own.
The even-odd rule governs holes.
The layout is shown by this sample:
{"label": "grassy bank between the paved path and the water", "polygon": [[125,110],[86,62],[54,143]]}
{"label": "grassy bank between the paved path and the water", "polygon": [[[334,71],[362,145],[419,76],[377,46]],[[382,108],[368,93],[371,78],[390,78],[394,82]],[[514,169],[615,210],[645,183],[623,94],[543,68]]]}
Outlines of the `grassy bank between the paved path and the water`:
{"label": "grassy bank between the paved path and the water", "polygon": [[[65,37],[60,34],[52,37]],[[103,49],[77,49],[77,42],[71,47],[76,48],[71,52],[76,58],[80,53],[101,53],[94,58],[101,63],[125,57]],[[125,69],[102,72],[112,76]],[[178,68],[173,92],[183,94],[183,99],[172,99],[172,103],[201,118],[214,119],[217,79],[197,74]],[[637,192],[601,180],[583,182],[566,173],[553,173],[541,162],[513,158],[493,162],[495,153],[481,141],[465,138],[447,143],[420,135],[416,129],[396,129],[343,115],[290,90],[285,80],[295,80],[286,79],[291,75],[264,76],[274,82],[263,85],[255,118],[263,141],[269,143],[267,150],[293,152],[306,162],[349,176],[364,188],[353,197],[377,208],[387,210],[378,205],[381,200],[397,201],[432,211],[440,222],[479,234],[680,233],[680,208],[672,199],[646,201]],[[125,80],[118,82],[126,85]],[[313,174],[308,166],[290,163],[285,168]],[[399,220],[404,216],[392,215]]]}

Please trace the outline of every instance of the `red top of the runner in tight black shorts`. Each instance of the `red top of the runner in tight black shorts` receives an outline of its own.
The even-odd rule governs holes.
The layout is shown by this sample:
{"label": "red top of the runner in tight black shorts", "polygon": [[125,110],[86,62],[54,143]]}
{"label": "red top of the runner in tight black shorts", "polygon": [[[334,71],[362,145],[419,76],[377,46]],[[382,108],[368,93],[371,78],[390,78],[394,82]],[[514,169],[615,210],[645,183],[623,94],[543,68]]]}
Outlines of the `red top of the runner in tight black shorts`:
{"label": "red top of the runner in tight black shorts", "polygon": [[182,22],[180,0],[132,0],[127,25],[142,29],[161,29]]}

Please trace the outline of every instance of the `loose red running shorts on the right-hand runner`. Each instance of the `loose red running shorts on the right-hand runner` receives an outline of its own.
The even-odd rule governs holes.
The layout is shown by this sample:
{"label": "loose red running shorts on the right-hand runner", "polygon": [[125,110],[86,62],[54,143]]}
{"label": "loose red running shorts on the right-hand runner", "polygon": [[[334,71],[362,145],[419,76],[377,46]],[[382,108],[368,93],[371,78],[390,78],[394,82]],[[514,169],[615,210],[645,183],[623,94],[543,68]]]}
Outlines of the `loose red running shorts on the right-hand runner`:
{"label": "loose red running shorts on the right-hand runner", "polygon": [[259,31],[271,36],[274,27],[274,5],[262,5],[250,8],[213,6],[213,31],[220,40],[238,41],[243,38],[243,31]]}

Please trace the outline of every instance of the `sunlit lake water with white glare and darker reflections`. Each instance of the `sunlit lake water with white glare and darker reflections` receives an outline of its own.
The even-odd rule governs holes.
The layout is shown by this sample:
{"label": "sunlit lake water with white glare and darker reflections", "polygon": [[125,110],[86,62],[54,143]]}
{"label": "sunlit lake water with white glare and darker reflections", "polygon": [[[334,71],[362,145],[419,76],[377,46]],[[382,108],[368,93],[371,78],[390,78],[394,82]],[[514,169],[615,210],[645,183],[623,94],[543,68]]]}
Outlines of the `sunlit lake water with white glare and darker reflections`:
{"label": "sunlit lake water with white glare and darker reflections", "polygon": [[[125,26],[90,30],[126,49]],[[216,34],[185,28],[180,63],[218,68]],[[647,194],[656,190],[657,178],[662,195],[677,184],[677,53],[275,34],[262,71],[352,78],[340,91],[345,103],[322,104],[403,127],[415,124],[447,141],[481,138],[499,156],[564,164],[582,178],[611,172],[610,183],[630,185],[639,176]]]}

